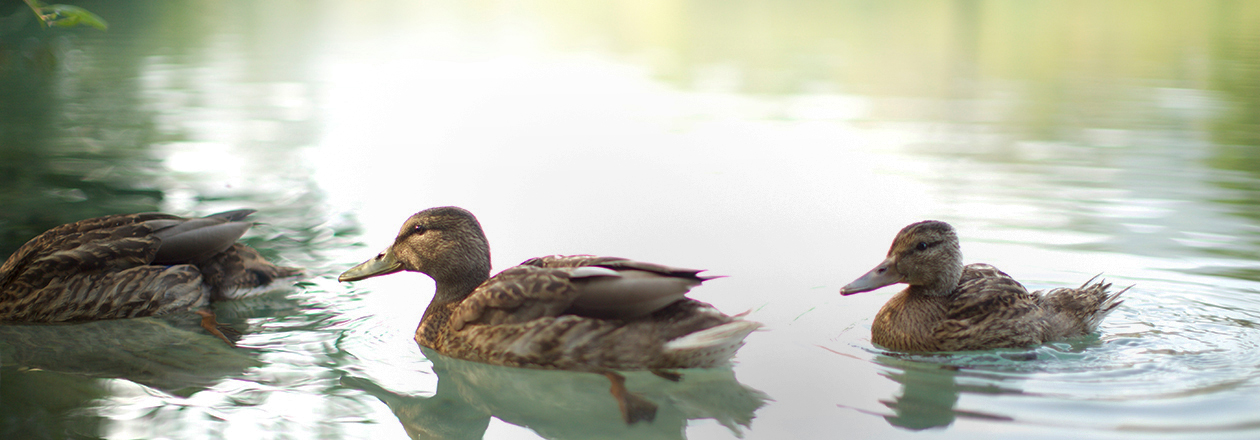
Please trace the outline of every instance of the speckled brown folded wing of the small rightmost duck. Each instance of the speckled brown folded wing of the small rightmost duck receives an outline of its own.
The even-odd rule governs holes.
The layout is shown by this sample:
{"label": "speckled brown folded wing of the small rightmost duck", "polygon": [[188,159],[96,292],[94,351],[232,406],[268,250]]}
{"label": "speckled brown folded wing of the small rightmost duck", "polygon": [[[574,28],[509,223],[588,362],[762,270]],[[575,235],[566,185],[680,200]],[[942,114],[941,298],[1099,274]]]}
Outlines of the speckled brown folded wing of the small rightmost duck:
{"label": "speckled brown folded wing of the small rightmost duck", "polygon": [[[960,352],[1042,343],[1043,311],[1037,296],[997,267],[976,263],[963,269],[945,319],[934,338],[940,350]],[[1038,327],[1033,332],[1028,327]]]}

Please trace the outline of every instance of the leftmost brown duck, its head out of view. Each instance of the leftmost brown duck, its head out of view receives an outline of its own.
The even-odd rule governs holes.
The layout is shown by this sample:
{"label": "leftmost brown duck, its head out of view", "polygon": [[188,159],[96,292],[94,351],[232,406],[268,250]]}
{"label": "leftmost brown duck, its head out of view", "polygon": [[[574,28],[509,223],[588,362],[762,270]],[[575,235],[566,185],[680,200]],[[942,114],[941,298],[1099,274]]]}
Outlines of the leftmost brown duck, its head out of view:
{"label": "leftmost brown duck, its head out of view", "polygon": [[0,266],[0,321],[73,323],[193,311],[236,345],[210,301],[252,296],[302,271],[237,242],[255,209],[199,218],[113,214],[62,224],[21,245]]}

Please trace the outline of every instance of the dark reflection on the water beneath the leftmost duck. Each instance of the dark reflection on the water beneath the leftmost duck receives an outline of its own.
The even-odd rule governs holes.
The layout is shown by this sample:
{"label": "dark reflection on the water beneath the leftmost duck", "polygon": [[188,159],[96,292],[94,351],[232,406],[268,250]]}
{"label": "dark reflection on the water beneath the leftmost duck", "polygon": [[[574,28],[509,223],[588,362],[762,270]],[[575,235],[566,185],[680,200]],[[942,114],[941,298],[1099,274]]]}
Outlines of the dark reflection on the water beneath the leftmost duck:
{"label": "dark reflection on the water beneath the leftmost duck", "polygon": [[94,408],[115,393],[106,379],[188,397],[262,364],[253,350],[207,335],[194,318],[0,325],[0,425],[25,432],[18,437],[94,439],[107,419]]}

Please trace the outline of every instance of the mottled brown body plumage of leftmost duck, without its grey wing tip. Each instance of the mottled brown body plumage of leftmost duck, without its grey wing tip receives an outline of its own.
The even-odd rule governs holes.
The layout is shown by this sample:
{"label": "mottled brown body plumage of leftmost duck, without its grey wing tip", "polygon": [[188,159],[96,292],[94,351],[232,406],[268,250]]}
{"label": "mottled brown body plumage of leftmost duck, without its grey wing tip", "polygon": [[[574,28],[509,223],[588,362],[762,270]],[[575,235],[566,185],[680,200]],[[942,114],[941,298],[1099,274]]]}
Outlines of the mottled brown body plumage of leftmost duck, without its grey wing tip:
{"label": "mottled brown body plumage of leftmost duck, without its grey wing tip", "polygon": [[[241,211],[244,214],[252,211]],[[292,276],[244,245],[198,265],[150,265],[163,213],[118,214],[54,227],[0,266],[0,320],[73,321],[147,316],[200,308],[242,287]],[[146,223],[149,222],[149,223]]]}

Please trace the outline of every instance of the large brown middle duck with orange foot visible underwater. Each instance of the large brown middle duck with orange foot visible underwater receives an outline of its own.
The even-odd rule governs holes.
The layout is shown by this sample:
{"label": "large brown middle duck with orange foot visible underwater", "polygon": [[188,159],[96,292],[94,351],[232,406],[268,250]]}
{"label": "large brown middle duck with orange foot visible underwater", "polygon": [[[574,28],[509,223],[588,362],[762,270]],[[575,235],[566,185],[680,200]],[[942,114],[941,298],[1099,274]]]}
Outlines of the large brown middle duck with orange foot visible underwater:
{"label": "large brown middle duck with orange foot visible underwater", "polygon": [[338,280],[401,271],[428,275],[436,285],[416,328],[420,345],[488,364],[604,374],[626,424],[650,421],[655,405],[626,391],[617,371],[675,381],[674,369],[730,366],[761,328],[687,298],[714,279],[701,270],[553,255],[491,277],[481,223],[459,207],[411,216],[386,251]]}

